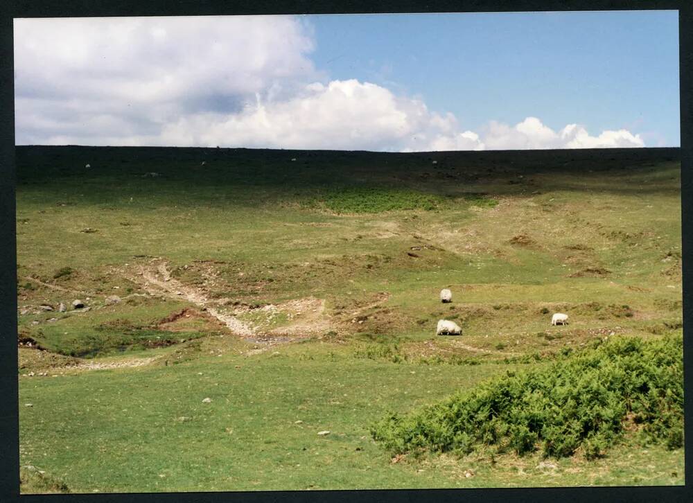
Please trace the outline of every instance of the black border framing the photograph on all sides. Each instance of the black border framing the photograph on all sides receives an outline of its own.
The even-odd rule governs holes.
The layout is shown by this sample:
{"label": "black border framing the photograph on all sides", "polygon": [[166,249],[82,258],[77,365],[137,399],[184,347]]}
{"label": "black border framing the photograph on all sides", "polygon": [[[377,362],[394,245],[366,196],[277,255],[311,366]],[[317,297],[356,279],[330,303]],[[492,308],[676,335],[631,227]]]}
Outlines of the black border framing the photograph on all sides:
{"label": "black border framing the photograph on all sides", "polygon": [[[685,380],[685,486],[393,489],[19,495],[15,123],[12,19],[417,12],[678,10]],[[693,2],[681,0],[1,0],[0,1],[0,502],[693,502]],[[608,149],[604,149],[604,157]]]}

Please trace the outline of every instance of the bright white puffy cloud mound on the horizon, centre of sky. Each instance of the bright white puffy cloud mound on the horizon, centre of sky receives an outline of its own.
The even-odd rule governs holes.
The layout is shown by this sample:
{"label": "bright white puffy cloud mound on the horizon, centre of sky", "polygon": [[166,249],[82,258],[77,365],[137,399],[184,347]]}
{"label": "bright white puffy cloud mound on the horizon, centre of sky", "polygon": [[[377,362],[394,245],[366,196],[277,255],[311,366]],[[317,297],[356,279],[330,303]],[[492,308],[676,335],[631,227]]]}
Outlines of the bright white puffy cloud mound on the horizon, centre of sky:
{"label": "bright white puffy cloud mound on the horizon, centre of sky", "polygon": [[236,114],[193,114],[167,125],[164,143],[337,150],[468,150],[478,137],[457,132],[452,114],[430,112],[369,82],[314,82],[290,100],[247,106]]}

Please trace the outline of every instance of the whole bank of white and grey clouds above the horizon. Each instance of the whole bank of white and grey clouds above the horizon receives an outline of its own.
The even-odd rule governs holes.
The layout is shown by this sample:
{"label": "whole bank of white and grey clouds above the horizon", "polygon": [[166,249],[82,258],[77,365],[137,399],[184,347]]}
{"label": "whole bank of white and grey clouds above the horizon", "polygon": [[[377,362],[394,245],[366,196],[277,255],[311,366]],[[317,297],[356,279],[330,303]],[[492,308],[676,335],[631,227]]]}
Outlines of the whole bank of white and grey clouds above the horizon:
{"label": "whole bank of white and grey clouds above the horizon", "polygon": [[644,146],[536,117],[464,130],[421,98],[329,80],[297,17],[16,19],[18,144],[427,151]]}

